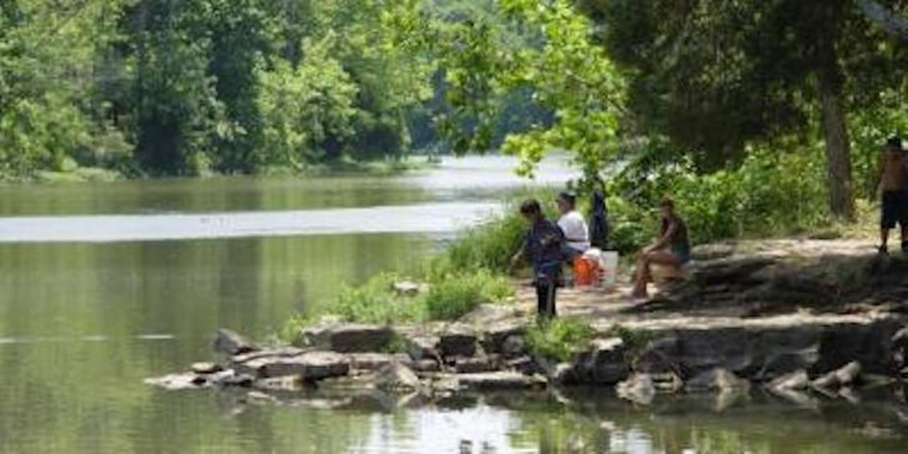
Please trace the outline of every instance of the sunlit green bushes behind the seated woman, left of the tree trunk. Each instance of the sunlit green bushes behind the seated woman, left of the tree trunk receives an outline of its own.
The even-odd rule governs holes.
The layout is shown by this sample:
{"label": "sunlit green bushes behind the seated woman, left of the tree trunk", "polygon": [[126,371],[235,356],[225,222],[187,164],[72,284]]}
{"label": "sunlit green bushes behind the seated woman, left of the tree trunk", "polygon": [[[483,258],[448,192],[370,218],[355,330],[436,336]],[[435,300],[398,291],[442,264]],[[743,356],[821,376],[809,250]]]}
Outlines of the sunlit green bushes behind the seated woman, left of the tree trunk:
{"label": "sunlit green bushes behind the seated woman, left of the tree trunk", "polygon": [[611,184],[612,242],[636,252],[657,234],[656,207],[671,197],[695,243],[804,232],[824,225],[823,152],[750,148],[739,165],[700,174],[686,158],[658,171],[628,166]]}

